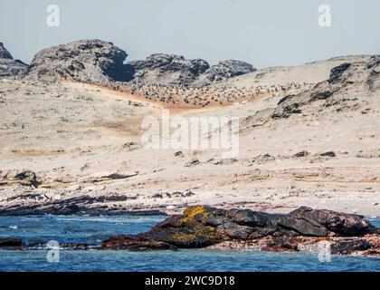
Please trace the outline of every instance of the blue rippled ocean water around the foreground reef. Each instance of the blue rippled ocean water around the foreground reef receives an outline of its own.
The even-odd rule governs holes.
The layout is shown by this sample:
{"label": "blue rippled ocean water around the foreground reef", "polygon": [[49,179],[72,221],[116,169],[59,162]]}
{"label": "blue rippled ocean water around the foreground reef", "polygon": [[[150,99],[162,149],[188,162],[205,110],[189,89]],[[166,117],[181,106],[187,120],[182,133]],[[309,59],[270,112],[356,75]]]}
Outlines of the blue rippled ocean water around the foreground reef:
{"label": "blue rippled ocean water around the foreground reef", "polygon": [[[0,217],[0,237],[18,237],[26,243],[57,241],[100,244],[114,234],[147,231],[162,216]],[[380,220],[371,220],[380,227]],[[0,250],[0,271],[380,271],[380,259],[332,256],[319,263],[318,256],[258,251],[186,249],[178,251],[72,251],[59,250],[54,262],[51,250]],[[50,260],[50,262],[49,262]]]}

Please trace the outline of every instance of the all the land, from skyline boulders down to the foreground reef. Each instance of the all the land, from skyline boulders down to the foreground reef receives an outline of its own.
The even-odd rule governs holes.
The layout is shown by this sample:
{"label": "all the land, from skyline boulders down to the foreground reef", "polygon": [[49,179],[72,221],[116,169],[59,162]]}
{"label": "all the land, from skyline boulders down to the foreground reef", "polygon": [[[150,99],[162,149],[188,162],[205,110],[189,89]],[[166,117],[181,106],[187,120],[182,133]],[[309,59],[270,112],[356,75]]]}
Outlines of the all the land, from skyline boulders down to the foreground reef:
{"label": "all the land, from skyline boulders down to the foreground reef", "polygon": [[[155,53],[126,63],[127,57],[113,43],[81,40],[46,48],[28,65],[0,43],[0,102],[7,117],[0,128],[6,149],[0,216],[171,214],[147,233],[62,245],[68,249],[308,252],[325,241],[337,255],[380,256],[379,228],[337,212],[378,217],[379,55],[333,62],[320,80],[277,84],[273,75],[277,81],[291,70],[299,76],[305,67],[255,74],[252,64],[234,60],[210,65]],[[242,118],[242,156],[143,151],[132,129],[140,117],[169,105],[212,116],[228,106]],[[350,138],[341,142],[339,134]],[[281,145],[272,146],[273,140]],[[27,169],[14,168],[20,160]],[[169,184],[173,192],[161,193]],[[232,208],[237,203],[241,208]],[[271,212],[308,203],[337,211],[244,209],[253,203]],[[353,208],[356,203],[365,209]],[[41,247],[0,239],[1,249]]]}

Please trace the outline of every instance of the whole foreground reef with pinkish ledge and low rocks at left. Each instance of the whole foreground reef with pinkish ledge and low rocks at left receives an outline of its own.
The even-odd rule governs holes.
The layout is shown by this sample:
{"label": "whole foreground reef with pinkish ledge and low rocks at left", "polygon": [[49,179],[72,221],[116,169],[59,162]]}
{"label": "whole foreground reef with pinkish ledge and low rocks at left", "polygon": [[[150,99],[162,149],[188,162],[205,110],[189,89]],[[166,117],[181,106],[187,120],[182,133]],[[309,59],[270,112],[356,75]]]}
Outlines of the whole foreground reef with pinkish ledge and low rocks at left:
{"label": "whole foreground reef with pinkish ledge and low rocks at left", "polygon": [[[289,214],[208,206],[185,208],[146,233],[116,235],[101,245],[70,243],[71,250],[177,250],[208,248],[266,252],[318,253],[328,243],[332,255],[380,256],[380,228],[365,218],[331,210],[298,208]],[[17,238],[0,238],[0,249],[43,248]]]}

